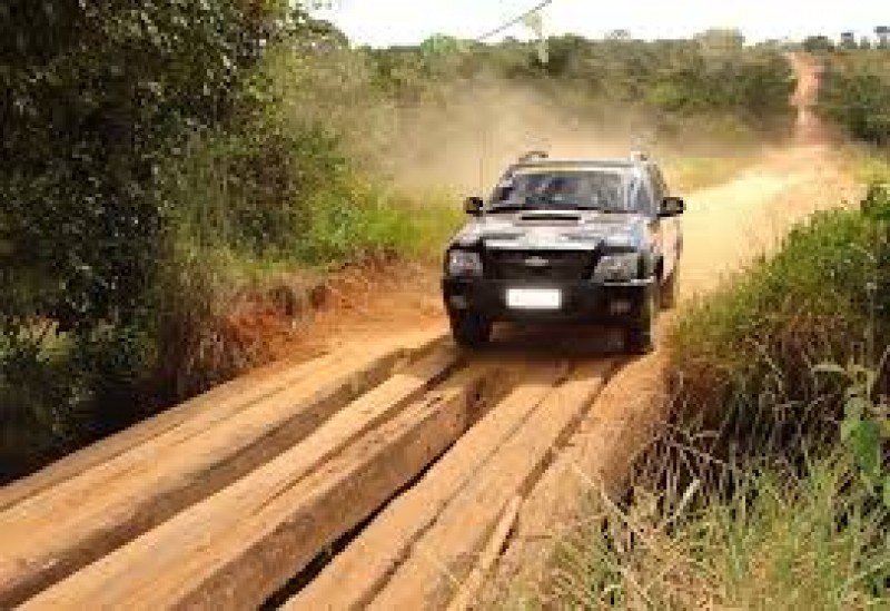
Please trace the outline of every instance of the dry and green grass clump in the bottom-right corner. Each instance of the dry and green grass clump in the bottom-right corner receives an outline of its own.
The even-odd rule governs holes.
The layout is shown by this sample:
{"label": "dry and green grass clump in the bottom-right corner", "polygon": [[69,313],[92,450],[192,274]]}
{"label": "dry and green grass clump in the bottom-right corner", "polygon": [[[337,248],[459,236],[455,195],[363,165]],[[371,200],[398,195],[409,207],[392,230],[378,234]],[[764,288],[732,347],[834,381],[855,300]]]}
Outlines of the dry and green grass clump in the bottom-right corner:
{"label": "dry and green grass clump in the bottom-right corner", "polygon": [[847,461],[815,461],[802,474],[748,467],[729,480],[723,489],[692,480],[670,492],[640,484],[625,506],[601,503],[597,528],[558,550],[546,607],[890,604],[890,514]]}

